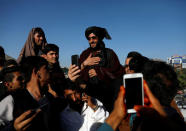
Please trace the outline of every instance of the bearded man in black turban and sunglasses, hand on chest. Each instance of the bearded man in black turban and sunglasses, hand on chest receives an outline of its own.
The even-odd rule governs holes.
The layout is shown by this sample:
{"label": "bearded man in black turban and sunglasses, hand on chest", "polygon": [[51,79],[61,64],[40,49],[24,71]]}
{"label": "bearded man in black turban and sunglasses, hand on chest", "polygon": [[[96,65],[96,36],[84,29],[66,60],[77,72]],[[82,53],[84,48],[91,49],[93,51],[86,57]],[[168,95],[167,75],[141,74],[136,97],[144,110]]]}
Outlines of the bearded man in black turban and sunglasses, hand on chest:
{"label": "bearded man in black turban and sunglasses, hand on chest", "polygon": [[123,68],[116,53],[105,47],[103,39],[111,39],[105,28],[88,27],[85,36],[90,47],[80,55],[81,78],[90,95],[101,100],[110,112],[122,84]]}

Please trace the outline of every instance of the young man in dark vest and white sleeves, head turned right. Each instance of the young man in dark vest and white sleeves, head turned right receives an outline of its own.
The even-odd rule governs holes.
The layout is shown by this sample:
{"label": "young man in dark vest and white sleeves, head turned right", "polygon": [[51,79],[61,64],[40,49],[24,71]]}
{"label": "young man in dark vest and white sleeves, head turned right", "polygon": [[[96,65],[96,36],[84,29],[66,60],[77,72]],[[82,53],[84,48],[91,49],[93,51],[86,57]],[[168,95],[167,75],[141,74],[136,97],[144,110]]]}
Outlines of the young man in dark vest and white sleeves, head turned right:
{"label": "young man in dark vest and white sleeves, head turned right", "polygon": [[30,56],[21,63],[25,87],[0,102],[2,130],[57,130],[54,98],[48,93],[50,74],[48,62],[39,56]]}

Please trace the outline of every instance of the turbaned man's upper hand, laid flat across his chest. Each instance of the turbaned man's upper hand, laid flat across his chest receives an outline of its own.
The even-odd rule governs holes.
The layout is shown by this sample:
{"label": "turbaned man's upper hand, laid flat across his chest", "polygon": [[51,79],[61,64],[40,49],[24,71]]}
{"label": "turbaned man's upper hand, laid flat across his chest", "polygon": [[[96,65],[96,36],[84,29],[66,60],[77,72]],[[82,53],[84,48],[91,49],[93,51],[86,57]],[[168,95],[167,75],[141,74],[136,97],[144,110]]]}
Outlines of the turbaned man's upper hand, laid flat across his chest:
{"label": "turbaned man's upper hand, laid flat across his chest", "polygon": [[92,57],[92,54],[88,56],[88,58],[82,63],[83,66],[81,67],[86,67],[86,66],[92,66],[92,65],[97,65],[99,64],[101,58],[100,57]]}

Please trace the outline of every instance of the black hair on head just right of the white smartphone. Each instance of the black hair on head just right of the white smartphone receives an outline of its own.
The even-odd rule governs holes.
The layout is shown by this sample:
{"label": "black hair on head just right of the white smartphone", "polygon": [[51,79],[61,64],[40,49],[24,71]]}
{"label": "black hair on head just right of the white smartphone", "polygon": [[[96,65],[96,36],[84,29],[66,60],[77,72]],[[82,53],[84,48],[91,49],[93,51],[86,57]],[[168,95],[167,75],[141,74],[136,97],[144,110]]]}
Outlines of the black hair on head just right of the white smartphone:
{"label": "black hair on head just right of the white smartphone", "polygon": [[179,89],[179,81],[173,67],[165,62],[150,60],[144,65],[143,76],[160,103],[169,106]]}

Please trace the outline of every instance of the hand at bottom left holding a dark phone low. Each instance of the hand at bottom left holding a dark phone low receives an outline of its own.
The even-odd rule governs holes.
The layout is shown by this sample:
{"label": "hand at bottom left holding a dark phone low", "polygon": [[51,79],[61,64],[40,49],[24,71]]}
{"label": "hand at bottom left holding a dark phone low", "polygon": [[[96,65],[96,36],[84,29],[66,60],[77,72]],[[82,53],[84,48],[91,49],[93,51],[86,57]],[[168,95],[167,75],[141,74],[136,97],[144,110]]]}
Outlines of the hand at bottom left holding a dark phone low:
{"label": "hand at bottom left holding a dark phone low", "polygon": [[36,112],[28,110],[17,117],[14,121],[14,129],[16,131],[25,131],[29,126],[31,126],[32,120],[37,116],[41,110],[38,109]]}

